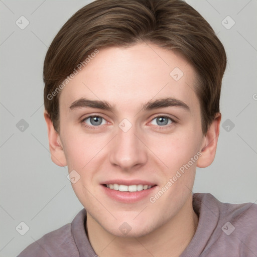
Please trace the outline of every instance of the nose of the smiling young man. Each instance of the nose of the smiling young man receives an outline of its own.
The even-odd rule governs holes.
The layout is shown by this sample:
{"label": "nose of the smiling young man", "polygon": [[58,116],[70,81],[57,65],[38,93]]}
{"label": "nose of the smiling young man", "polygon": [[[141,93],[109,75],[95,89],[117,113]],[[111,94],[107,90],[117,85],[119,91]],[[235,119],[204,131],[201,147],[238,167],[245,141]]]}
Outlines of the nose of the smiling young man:
{"label": "nose of the smiling young man", "polygon": [[147,147],[143,142],[144,136],[136,131],[135,126],[132,126],[127,132],[118,128],[109,153],[111,164],[124,171],[130,171],[136,166],[140,167],[146,164]]}

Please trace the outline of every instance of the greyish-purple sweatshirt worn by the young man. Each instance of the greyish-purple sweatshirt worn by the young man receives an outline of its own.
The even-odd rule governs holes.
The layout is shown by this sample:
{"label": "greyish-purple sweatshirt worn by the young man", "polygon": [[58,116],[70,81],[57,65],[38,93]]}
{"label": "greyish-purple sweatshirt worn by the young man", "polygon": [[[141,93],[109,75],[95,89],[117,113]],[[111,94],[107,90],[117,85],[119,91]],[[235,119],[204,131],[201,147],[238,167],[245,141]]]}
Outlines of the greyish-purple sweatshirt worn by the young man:
{"label": "greyish-purple sweatshirt worn by the young man", "polygon": [[[256,257],[257,204],[221,203],[211,194],[193,194],[196,232],[180,257]],[[85,231],[86,210],[45,234],[18,257],[97,257]],[[115,257],[115,256],[114,256]]]}

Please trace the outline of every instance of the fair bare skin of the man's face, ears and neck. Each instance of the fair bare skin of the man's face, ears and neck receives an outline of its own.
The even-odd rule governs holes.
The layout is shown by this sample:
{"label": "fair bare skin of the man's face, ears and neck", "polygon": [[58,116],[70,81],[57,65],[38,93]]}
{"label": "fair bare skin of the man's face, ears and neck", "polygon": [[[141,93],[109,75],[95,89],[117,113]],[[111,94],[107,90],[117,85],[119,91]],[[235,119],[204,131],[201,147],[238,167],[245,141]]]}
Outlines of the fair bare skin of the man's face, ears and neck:
{"label": "fair bare skin of the man's face, ears and neck", "polygon": [[[184,73],[178,81],[170,76],[175,67]],[[203,135],[195,75],[181,56],[153,44],[99,49],[61,91],[59,134],[45,112],[53,162],[80,175],[72,187],[87,210],[86,231],[98,256],[179,256],[192,239],[198,223],[192,208],[195,171],[215,157],[221,118],[217,113]],[[70,109],[81,97],[105,100],[115,109]],[[190,110],[141,108],[166,97],[183,101]],[[81,121],[88,114],[104,119],[90,129],[85,127],[93,126],[90,119]],[[156,115],[174,122],[168,119],[169,124],[160,125]],[[127,132],[118,126],[124,118],[132,124]],[[151,203],[149,197],[198,152],[201,157]],[[101,183],[110,179],[141,179],[157,186],[139,202],[120,203],[103,193]],[[131,227],[127,234],[119,230],[123,222]]]}

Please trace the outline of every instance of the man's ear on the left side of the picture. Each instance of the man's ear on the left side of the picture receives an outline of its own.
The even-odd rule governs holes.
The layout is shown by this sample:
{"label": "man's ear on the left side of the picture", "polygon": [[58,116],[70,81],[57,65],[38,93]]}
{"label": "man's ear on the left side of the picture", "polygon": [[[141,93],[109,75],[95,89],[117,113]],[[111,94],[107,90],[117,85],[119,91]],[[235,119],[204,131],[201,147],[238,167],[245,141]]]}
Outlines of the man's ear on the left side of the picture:
{"label": "man's ear on the left side of the picture", "polygon": [[67,165],[67,161],[61,144],[60,135],[55,131],[52,119],[50,118],[46,110],[44,112],[44,116],[47,124],[51,159],[56,165],[64,167]]}

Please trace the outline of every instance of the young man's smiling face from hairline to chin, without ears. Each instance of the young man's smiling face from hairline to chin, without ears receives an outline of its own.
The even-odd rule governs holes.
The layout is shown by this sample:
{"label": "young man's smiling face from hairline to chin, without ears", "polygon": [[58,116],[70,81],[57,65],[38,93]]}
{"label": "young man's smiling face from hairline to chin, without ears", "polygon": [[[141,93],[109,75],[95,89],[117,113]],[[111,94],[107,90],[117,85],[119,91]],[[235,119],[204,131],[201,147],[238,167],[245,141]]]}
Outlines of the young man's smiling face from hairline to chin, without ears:
{"label": "young man's smiling face from hairline to chin, without ears", "polygon": [[190,199],[206,144],[195,81],[182,57],[138,44],[99,49],[62,89],[58,158],[105,231],[148,234]]}

